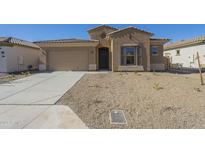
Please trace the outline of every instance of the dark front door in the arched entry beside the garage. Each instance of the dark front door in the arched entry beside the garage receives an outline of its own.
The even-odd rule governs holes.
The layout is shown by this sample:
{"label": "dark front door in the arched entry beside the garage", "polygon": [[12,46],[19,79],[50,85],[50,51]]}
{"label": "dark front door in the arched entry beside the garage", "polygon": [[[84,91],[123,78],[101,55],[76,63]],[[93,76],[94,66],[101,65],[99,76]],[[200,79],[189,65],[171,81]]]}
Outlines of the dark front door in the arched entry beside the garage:
{"label": "dark front door in the arched entry beside the garage", "polygon": [[108,48],[99,48],[99,69],[109,69]]}

